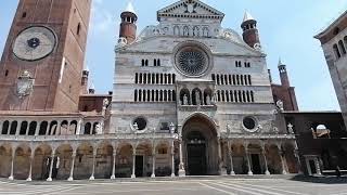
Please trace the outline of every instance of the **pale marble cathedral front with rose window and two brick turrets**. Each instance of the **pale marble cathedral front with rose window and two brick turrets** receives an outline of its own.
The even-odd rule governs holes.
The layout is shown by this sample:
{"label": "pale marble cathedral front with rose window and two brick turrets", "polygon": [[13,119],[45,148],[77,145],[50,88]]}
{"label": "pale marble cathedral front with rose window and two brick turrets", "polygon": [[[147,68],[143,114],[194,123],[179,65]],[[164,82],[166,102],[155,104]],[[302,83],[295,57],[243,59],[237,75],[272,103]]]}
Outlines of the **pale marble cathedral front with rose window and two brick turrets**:
{"label": "pale marble cathedral front with rose window and two brick turrets", "polygon": [[138,16],[131,4],[121,13],[110,133],[132,138],[132,177],[297,172],[257,21],[245,13],[241,37],[221,26],[223,17],[182,0],[133,39]]}

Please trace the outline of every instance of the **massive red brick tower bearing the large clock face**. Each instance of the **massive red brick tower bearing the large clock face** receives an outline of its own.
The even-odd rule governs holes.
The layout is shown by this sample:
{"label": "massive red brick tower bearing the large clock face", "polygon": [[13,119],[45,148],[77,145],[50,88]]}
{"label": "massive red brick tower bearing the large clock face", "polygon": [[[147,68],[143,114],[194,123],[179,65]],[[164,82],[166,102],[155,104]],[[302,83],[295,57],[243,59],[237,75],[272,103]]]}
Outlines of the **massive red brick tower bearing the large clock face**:
{"label": "massive red brick tower bearing the large clock face", "polygon": [[21,0],[0,63],[0,110],[76,112],[91,0]]}

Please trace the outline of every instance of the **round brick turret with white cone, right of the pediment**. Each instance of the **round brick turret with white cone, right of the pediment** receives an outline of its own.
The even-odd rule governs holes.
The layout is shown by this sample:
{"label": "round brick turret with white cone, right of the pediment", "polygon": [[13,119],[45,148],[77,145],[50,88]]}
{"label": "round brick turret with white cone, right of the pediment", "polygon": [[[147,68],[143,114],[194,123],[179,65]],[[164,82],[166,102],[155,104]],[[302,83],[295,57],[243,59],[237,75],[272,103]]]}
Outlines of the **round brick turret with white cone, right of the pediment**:
{"label": "round brick turret with white cone, right of the pediment", "polygon": [[243,40],[250,48],[261,49],[257,21],[248,12],[245,12],[241,28],[243,29]]}

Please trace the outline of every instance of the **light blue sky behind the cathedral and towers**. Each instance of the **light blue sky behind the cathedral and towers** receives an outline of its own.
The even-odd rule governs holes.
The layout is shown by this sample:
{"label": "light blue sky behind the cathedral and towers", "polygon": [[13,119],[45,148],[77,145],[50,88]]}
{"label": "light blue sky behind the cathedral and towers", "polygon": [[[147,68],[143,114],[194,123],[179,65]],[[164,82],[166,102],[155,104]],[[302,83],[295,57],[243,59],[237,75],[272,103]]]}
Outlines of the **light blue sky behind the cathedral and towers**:
{"label": "light blue sky behind the cathedral and towers", "polygon": [[[18,0],[0,0],[0,52],[2,53]],[[120,13],[129,0],[93,0],[86,64],[98,93],[113,89],[115,44]],[[177,0],[130,0],[137,11],[138,34],[156,25],[156,11]],[[279,81],[278,62],[287,65],[300,110],[339,110],[320,42],[313,38],[347,9],[347,0],[203,0],[223,12],[222,26],[242,34],[247,10],[257,21],[268,68]]]}

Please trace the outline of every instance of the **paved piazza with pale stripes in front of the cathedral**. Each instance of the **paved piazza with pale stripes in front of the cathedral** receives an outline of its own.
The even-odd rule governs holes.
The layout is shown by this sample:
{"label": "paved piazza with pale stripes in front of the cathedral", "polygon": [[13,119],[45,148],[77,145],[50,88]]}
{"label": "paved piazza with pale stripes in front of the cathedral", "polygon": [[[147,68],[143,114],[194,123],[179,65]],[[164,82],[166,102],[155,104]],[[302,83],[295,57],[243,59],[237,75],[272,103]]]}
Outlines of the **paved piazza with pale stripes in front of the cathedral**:
{"label": "paved piazza with pale stripes in front of the cathedral", "polygon": [[12,194],[125,194],[125,195],[344,195],[346,179],[294,181],[288,179],[189,179],[178,181],[76,181],[67,182],[8,182],[0,181],[0,195]]}

